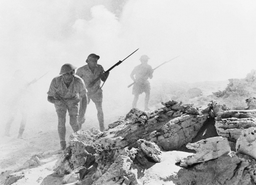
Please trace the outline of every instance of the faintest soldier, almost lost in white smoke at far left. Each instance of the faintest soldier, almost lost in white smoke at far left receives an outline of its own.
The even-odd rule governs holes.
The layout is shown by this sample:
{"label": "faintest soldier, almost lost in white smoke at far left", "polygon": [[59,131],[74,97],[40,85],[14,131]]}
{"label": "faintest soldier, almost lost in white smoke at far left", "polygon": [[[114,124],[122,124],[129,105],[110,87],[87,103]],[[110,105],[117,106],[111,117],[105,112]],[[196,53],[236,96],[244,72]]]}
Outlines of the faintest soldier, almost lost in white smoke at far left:
{"label": "faintest soldier, almost lost in white smoke at far left", "polygon": [[9,111],[7,118],[7,123],[5,127],[5,135],[10,136],[10,129],[11,125],[14,122],[14,119],[18,112],[21,113],[21,124],[20,124],[20,130],[18,134],[18,139],[23,139],[22,135],[25,130],[26,122],[27,122],[27,103],[30,100],[30,89],[29,86],[36,82],[36,80],[33,80],[32,82],[28,83],[24,79],[24,74],[21,70],[17,70],[14,73],[13,78],[8,83],[7,89],[8,96],[10,99],[8,100],[8,105],[6,107],[6,110]]}

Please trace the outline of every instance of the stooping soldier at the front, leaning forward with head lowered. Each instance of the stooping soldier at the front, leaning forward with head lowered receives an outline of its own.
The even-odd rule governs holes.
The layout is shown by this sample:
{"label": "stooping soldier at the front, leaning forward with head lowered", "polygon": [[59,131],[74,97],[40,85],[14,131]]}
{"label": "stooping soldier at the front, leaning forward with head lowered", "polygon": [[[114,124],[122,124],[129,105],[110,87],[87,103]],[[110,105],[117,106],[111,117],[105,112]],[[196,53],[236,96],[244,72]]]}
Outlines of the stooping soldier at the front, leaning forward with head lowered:
{"label": "stooping soldier at the front, leaning forward with head lowered", "polygon": [[[47,100],[50,103],[54,103],[58,115],[61,150],[66,148],[66,111],[68,110],[69,112],[69,123],[73,131],[76,132],[81,128],[81,120],[84,117],[87,106],[85,84],[79,76],[75,75],[75,69],[76,67],[69,63],[64,64],[60,69],[59,75],[53,78],[47,92]],[[80,97],[82,100],[79,104]]]}

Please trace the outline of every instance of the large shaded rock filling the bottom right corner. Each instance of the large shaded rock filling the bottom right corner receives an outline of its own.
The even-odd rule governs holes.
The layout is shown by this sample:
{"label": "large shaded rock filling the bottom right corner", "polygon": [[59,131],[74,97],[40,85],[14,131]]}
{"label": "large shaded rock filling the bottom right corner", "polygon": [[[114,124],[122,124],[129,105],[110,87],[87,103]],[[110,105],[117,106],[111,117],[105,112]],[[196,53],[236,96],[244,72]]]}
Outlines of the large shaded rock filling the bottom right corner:
{"label": "large shaded rock filling the bottom right corner", "polygon": [[256,162],[249,156],[228,152],[217,159],[180,169],[174,184],[256,184]]}

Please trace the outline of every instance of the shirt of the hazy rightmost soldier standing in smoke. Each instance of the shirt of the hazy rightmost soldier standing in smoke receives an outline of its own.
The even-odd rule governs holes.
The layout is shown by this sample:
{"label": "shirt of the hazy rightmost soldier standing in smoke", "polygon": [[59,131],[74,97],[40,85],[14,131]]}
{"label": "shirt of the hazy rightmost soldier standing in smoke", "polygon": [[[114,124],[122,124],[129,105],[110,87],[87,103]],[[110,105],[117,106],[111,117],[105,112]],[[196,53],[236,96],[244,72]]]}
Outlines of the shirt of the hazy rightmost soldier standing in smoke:
{"label": "shirt of the hazy rightmost soldier standing in smoke", "polygon": [[135,75],[135,79],[139,82],[148,80],[148,78],[153,77],[153,69],[148,64],[140,64],[134,67],[131,75]]}

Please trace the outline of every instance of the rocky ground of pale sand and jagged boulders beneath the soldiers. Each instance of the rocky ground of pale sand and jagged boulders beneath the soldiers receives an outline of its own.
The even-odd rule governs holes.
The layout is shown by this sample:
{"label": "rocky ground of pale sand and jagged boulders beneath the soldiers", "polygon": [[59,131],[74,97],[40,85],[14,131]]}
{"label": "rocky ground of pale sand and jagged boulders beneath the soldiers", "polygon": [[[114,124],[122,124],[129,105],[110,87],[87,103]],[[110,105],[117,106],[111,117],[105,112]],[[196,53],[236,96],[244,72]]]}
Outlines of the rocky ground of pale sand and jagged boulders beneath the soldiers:
{"label": "rocky ground of pale sand and jagged boulders beneath the soldiers", "polygon": [[[249,135],[249,140],[255,140],[251,134],[255,131],[247,130],[256,125],[255,100],[245,100],[254,93],[253,85],[250,88],[254,82],[252,73],[240,80],[170,83],[172,88],[158,88],[159,91],[153,88],[150,112],[129,112],[127,108],[116,113],[106,110],[109,129],[104,133],[97,131],[95,115],[87,117],[87,124],[82,126],[84,131],[75,135],[67,121],[69,146],[64,153],[59,150],[55,112],[43,119],[31,118],[23,139],[16,139],[16,123],[11,137],[1,135],[0,184],[255,184],[255,159],[247,152],[254,150],[243,147],[248,136],[240,138],[243,133]],[[244,87],[244,81],[249,85],[241,91],[246,93],[241,94],[244,99],[240,103],[241,98],[234,94]],[[228,91],[230,85],[234,88]],[[178,101],[174,103],[171,99]],[[239,105],[247,109],[246,103],[251,105],[248,108],[251,111],[223,106]],[[138,107],[143,107],[143,101],[139,100]],[[111,109],[116,110],[116,106]],[[226,140],[220,142],[219,136]],[[209,138],[217,139],[208,141]],[[204,144],[198,143],[200,140],[215,149],[207,145],[198,147]],[[208,155],[200,151],[208,151]],[[229,165],[223,165],[224,162]]]}

